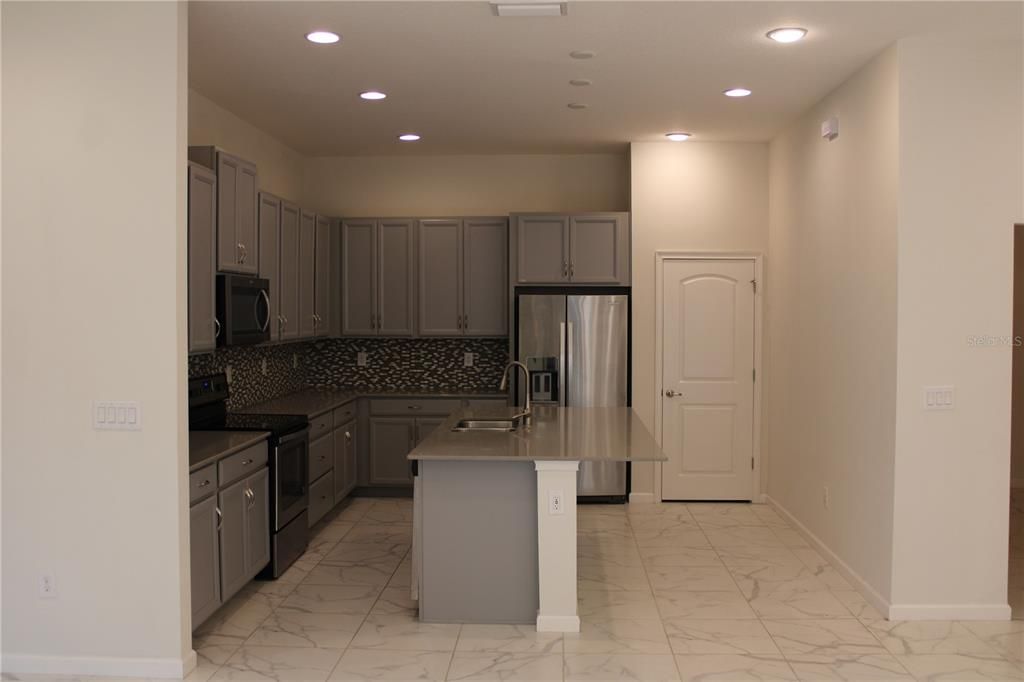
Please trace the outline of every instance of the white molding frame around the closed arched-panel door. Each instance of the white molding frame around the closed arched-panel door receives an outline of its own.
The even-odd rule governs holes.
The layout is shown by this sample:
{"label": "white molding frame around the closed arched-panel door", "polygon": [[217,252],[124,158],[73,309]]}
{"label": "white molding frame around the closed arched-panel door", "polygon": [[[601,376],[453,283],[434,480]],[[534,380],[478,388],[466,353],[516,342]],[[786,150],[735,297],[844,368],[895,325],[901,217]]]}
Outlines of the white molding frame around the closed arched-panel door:
{"label": "white molding frame around the closed arched-panel door", "polygon": [[[754,279],[758,283],[757,291],[754,293],[754,372],[757,379],[754,382],[754,489],[751,491],[751,500],[760,502],[762,492],[765,489],[765,469],[761,461],[761,386],[764,383],[764,373],[762,372],[762,323],[764,312],[762,302],[764,300],[764,254],[758,251],[655,251],[654,252],[654,434],[658,444],[664,443],[662,401],[664,389],[662,370],[663,357],[665,353],[665,319],[663,306],[665,304],[665,262],[669,260],[738,260],[750,261],[754,264]],[[662,502],[662,471],[663,463],[654,464],[654,501]]]}

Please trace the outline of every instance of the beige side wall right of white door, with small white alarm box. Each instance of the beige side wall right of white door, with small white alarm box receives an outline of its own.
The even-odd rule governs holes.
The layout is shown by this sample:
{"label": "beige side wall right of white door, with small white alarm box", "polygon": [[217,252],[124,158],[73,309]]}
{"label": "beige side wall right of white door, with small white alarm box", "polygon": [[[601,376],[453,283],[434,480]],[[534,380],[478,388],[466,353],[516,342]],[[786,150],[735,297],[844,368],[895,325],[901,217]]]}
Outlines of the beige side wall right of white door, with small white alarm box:
{"label": "beige side wall right of white door, with small white alarm box", "polygon": [[[892,565],[898,96],[892,48],[772,141],[766,286],[768,494],[883,599]],[[820,124],[831,116],[841,134],[829,142]]]}

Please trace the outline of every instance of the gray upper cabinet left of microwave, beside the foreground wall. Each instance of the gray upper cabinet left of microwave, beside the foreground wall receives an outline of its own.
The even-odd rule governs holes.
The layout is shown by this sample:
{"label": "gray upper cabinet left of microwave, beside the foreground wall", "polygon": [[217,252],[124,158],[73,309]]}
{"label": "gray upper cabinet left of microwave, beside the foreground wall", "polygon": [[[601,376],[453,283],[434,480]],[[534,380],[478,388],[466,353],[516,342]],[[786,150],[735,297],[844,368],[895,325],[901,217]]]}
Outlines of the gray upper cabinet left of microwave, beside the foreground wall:
{"label": "gray upper cabinet left of microwave, beside the foreground wall", "polygon": [[219,323],[216,224],[217,176],[188,164],[188,350],[205,352],[217,346]]}

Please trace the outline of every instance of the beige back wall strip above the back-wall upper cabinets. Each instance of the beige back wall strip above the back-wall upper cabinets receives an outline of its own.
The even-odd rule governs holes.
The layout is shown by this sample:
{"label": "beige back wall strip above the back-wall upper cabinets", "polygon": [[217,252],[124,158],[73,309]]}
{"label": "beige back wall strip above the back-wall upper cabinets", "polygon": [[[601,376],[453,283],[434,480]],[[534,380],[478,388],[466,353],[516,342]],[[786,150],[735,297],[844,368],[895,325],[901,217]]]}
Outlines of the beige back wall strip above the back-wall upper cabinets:
{"label": "beige back wall strip above the back-wall upper cabinets", "polygon": [[305,164],[303,202],[338,216],[628,211],[625,155],[330,157]]}

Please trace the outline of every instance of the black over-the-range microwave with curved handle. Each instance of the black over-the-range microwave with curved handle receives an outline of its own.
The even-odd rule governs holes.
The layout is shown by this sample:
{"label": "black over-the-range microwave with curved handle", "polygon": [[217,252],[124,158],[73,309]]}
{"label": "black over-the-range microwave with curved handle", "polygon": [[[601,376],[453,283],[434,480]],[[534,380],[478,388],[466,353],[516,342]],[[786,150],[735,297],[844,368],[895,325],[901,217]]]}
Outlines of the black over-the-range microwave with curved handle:
{"label": "black over-the-range microwave with curved handle", "polygon": [[219,346],[270,340],[270,282],[245,274],[217,274]]}

